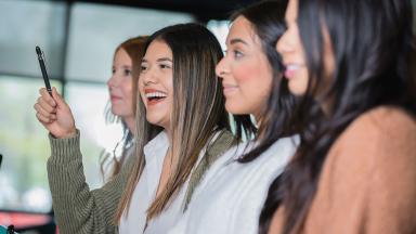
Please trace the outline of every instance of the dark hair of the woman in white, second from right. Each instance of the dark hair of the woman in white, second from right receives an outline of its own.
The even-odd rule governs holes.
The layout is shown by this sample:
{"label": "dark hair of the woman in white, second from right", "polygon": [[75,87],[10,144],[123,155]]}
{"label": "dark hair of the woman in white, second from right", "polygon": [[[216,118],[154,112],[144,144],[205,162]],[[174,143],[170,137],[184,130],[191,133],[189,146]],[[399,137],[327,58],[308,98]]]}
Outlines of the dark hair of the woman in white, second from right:
{"label": "dark hair of the woman in white, second from right", "polygon": [[262,109],[261,125],[255,139],[259,144],[246,155],[239,157],[239,162],[255,160],[275,141],[295,132],[295,129],[291,127],[283,129],[281,126],[275,125],[277,122],[276,119],[281,119],[284,122],[290,119],[291,116],[285,115],[290,112],[283,112],[284,114],[282,115],[281,109],[290,109],[295,103],[295,96],[290,94],[285,84],[287,81],[282,79],[282,57],[275,50],[277,40],[285,31],[284,17],[286,6],[287,0],[261,1],[235,12],[231,17],[232,21],[235,21],[238,16],[243,16],[250,22],[255,34],[260,39],[262,51],[273,68],[271,93],[265,108]]}

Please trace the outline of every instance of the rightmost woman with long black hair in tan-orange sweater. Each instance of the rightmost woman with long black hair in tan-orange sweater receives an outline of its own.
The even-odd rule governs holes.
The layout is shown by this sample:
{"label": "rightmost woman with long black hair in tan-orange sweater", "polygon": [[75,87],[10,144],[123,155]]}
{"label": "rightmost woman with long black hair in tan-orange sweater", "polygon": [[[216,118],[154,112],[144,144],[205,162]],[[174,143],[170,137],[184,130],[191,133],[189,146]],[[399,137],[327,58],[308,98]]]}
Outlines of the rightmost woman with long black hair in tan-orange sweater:
{"label": "rightmost woman with long black hair in tan-orange sweater", "polygon": [[289,1],[276,49],[301,99],[301,142],[270,187],[261,233],[416,233],[412,9]]}

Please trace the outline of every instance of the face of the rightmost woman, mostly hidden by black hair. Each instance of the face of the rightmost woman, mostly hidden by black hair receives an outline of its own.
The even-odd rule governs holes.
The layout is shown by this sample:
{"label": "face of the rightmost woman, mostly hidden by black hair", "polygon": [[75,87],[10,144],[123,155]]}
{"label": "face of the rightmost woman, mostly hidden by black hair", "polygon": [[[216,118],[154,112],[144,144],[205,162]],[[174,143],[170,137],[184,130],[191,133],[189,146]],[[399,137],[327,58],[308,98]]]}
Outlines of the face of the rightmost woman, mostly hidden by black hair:
{"label": "face of the rightmost woman, mostly hidden by black hair", "polygon": [[[310,72],[307,67],[306,53],[303,44],[301,42],[299,27],[298,27],[298,0],[289,0],[286,10],[286,24],[287,30],[277,41],[276,50],[283,56],[283,63],[285,65],[285,78],[288,79],[289,90],[295,95],[303,95],[308,89]],[[330,40],[326,27],[323,27],[324,38],[324,83],[318,87],[317,94],[326,91],[326,87],[329,83],[328,78],[334,72],[334,53],[330,46]],[[316,28],[318,30],[318,28]],[[312,82],[314,86],[314,82]]]}

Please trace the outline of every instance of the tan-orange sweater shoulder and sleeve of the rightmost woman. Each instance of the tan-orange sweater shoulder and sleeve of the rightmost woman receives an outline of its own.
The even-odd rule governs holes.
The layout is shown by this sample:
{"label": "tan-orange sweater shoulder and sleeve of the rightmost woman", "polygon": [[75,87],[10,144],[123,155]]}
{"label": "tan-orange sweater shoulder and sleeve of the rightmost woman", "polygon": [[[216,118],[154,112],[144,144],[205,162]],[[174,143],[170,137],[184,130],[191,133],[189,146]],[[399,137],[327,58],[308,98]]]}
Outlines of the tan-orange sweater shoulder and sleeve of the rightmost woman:
{"label": "tan-orange sweater shoulder and sleeve of the rightmost woman", "polygon": [[362,114],[325,158],[307,226],[410,233],[403,230],[416,217],[415,165],[414,116],[391,106]]}

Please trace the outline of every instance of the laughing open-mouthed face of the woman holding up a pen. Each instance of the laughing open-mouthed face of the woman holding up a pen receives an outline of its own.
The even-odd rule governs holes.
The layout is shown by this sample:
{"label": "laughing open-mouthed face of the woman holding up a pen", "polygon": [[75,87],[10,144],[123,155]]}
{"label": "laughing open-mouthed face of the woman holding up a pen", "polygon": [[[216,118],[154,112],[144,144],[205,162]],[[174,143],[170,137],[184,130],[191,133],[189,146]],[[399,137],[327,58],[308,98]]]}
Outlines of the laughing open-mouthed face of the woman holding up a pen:
{"label": "laughing open-mouthed face of the woman holding up a pen", "polygon": [[146,107],[146,119],[165,129],[170,127],[173,100],[172,51],[161,40],[154,40],[142,60],[139,90]]}

